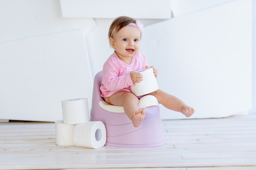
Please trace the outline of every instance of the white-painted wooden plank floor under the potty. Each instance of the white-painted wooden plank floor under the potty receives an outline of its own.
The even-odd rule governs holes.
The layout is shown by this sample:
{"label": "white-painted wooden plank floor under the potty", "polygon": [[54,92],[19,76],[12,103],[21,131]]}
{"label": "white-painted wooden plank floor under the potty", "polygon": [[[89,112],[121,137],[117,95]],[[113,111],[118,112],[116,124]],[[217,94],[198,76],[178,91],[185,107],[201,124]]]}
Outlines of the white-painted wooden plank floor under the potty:
{"label": "white-painted wooden plank floor under the potty", "polygon": [[256,115],[165,120],[166,145],[56,146],[54,123],[0,123],[1,170],[256,170]]}

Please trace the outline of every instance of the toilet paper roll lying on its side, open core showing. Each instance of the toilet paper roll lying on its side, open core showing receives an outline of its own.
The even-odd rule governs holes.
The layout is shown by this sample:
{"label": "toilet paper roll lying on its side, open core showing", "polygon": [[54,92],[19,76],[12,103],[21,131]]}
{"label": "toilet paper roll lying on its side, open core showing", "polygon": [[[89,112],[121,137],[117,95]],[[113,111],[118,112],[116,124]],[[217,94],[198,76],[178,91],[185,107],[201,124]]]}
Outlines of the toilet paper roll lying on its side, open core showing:
{"label": "toilet paper roll lying on its side, open core showing", "polygon": [[101,121],[88,121],[74,128],[74,144],[86,148],[100,148],[106,144],[107,134]]}

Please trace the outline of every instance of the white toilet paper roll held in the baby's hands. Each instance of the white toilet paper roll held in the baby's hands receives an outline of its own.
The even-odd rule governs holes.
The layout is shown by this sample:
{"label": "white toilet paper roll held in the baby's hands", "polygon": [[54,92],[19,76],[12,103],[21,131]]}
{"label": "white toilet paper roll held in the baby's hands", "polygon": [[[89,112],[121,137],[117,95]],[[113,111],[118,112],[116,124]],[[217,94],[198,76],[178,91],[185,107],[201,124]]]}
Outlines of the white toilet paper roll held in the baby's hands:
{"label": "white toilet paper roll held in the baby's hands", "polygon": [[135,86],[130,86],[134,95],[142,96],[158,90],[153,68],[147,68],[137,72],[142,74],[143,80],[139,83],[135,83]]}

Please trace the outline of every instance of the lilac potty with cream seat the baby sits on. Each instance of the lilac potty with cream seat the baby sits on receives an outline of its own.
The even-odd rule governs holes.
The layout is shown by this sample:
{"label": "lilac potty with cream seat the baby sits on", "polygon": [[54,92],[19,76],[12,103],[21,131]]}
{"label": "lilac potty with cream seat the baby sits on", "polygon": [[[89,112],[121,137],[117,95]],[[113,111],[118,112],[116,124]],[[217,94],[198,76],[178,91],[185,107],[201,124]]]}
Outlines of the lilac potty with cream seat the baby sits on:
{"label": "lilac potty with cream seat the baby sits on", "polygon": [[102,121],[106,126],[106,146],[149,148],[165,144],[157,99],[146,95],[139,100],[139,108],[146,115],[141,125],[135,128],[121,106],[113,106],[101,97],[101,72],[94,77],[91,121]]}

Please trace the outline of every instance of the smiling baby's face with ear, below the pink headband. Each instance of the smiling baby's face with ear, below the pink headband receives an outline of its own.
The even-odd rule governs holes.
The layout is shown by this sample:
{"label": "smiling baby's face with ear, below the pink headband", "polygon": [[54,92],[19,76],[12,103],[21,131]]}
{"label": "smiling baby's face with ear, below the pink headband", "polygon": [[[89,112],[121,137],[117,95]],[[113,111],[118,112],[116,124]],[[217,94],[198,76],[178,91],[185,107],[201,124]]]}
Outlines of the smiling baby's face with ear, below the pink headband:
{"label": "smiling baby's face with ear, below the pink headband", "polygon": [[117,55],[126,60],[139,52],[141,32],[136,26],[127,25],[115,32],[110,38],[110,44]]}

